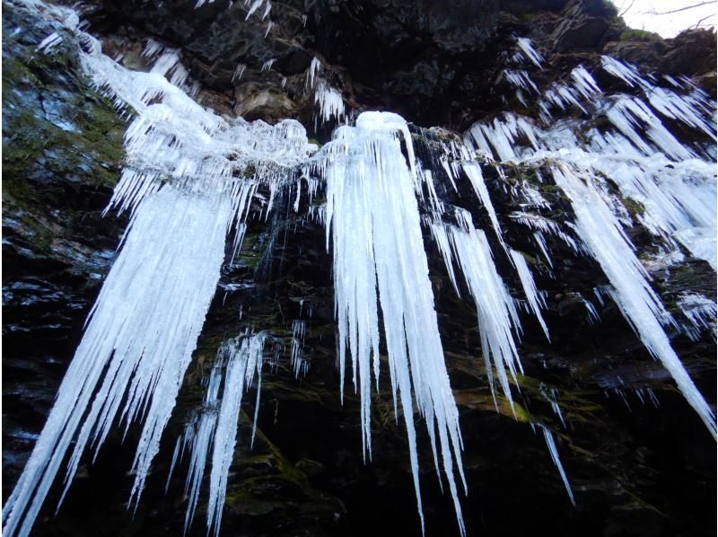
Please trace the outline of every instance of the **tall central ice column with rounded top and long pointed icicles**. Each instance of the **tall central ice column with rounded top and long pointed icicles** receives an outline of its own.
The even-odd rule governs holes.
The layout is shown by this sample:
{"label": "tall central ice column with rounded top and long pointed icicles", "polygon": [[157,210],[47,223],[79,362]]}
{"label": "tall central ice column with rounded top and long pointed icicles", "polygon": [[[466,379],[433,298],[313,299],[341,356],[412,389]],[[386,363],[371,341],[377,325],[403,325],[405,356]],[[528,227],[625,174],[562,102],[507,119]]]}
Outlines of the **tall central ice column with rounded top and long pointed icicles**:
{"label": "tall central ice column with rounded top and long pointed icicles", "polygon": [[407,123],[396,114],[364,112],[355,128],[338,128],[322,152],[326,158],[318,167],[328,189],[327,241],[331,239],[334,249],[339,365],[343,378],[348,347],[362,399],[364,449],[371,455],[372,359],[375,380],[379,381],[378,287],[391,385],[407,427],[422,528],[412,392],[425,417],[433,453],[437,453],[438,432],[442,467],[463,535],[454,478],[454,471],[459,471],[463,480],[459,413],[433,308],[415,195],[419,178]]}

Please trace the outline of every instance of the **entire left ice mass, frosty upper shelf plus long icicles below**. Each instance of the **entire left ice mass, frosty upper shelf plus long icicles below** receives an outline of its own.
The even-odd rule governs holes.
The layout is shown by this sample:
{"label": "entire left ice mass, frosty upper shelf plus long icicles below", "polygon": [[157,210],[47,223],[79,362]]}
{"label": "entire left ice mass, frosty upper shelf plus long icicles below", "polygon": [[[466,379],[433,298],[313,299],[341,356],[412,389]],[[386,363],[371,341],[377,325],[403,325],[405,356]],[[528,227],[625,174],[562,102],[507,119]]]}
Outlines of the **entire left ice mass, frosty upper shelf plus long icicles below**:
{"label": "entire left ice mass, frosty upper shelf plus long icicles below", "polygon": [[[84,447],[91,442],[97,453],[118,414],[126,427],[144,420],[133,463],[131,502],[138,499],[215,293],[226,233],[236,222],[239,247],[257,184],[276,185],[316,149],[296,121],[269,126],[203,109],[176,85],[186,77],[171,51],[159,56],[154,72],[128,71],[101,54],[74,11],[21,4],[73,33],[93,83],[118,107],[134,110],[127,165],[110,201],[133,214],[46,426],[5,503],[7,535],[30,532],[69,446],[74,442],[65,492]],[[161,52],[148,43],[147,56]],[[256,173],[246,180],[241,172],[250,165]]]}

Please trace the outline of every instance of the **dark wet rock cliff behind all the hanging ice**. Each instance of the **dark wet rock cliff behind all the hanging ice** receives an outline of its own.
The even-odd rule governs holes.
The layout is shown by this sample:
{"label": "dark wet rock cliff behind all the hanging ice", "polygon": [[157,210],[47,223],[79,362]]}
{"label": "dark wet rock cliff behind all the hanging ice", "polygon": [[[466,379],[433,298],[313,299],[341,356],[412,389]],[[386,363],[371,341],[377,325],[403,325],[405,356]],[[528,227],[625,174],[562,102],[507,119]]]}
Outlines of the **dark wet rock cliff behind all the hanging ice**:
{"label": "dark wet rock cliff behind all the hanging ice", "polygon": [[[326,79],[342,88],[347,109],[395,110],[412,121],[417,154],[427,165],[439,135],[418,126],[459,130],[502,110],[538,115],[506,91],[501,77],[514,36],[529,36],[547,57],[537,84],[550,84],[580,63],[598,65],[601,54],[610,54],[648,71],[692,76],[715,95],[714,34],[646,36],[627,29],[598,0],[288,0],[274,3],[265,20],[256,13],[248,18],[249,5],[225,0],[197,9],[194,0],[91,4],[85,17],[92,31],[107,54],[123,55],[125,66],[148,70],[143,43],[158,40],[180,50],[199,83],[197,100],[207,107],[268,122],[293,117],[310,136],[326,141],[329,128],[315,122],[316,105],[306,92],[305,73],[318,57]],[[64,40],[53,54],[39,54],[38,43],[51,29],[13,4],[4,4],[3,22],[6,498],[81,339],[127,218],[101,216],[123,162],[125,123],[88,85],[77,46]],[[270,60],[270,68],[263,69]],[[236,76],[240,64],[246,69]],[[619,85],[615,79],[599,82],[608,90]],[[506,240],[532,251],[521,248],[529,237],[508,217],[521,209],[519,202],[503,194],[506,185],[530,180],[530,171],[517,167],[501,177],[489,168],[486,183]],[[555,186],[543,185],[540,193],[559,207],[556,217],[570,212]],[[460,204],[470,192],[456,196]],[[166,494],[164,489],[174,439],[202,400],[219,344],[250,325],[268,330],[268,348],[277,360],[263,381],[253,450],[251,405],[241,417],[223,534],[420,534],[406,440],[389,383],[372,401],[374,456],[363,463],[358,397],[347,387],[342,405],[338,393],[325,230],[289,211],[290,197],[284,190],[276,199],[272,225],[250,221],[240,259],[223,270],[134,518],[125,508],[133,453],[127,445],[135,445],[137,436],[130,428],[124,444],[118,430],[96,462],[83,459],[70,495],[54,515],[61,492],[56,484],[33,535],[180,534],[185,467],[179,465]],[[306,212],[304,204],[302,199],[299,214]],[[656,251],[652,235],[638,222],[640,210],[635,207],[629,216],[635,225],[628,233],[639,251]],[[472,213],[476,224],[491,227],[484,207]],[[515,417],[506,404],[495,408],[492,400],[473,304],[454,293],[439,252],[427,251],[466,448],[469,495],[462,505],[468,534],[713,535],[714,440],[616,304],[596,304],[597,323],[586,316],[583,299],[608,283],[599,265],[558,240],[548,246],[560,260],[554,277],[541,270],[538,259],[530,266],[538,288],[547,291],[545,318],[553,343],[537,322],[522,320],[525,371]],[[520,289],[509,260],[497,256],[495,262],[512,291]],[[681,294],[715,296],[715,272],[703,260],[658,265],[652,277],[676,316]],[[310,366],[300,378],[288,360],[297,320],[307,327],[301,349]],[[714,406],[714,336],[710,330],[696,340],[679,330],[670,335]],[[649,389],[658,404],[649,401]],[[566,427],[552,402],[563,409]],[[530,422],[555,431],[577,506],[569,503],[540,431]],[[426,440],[420,434],[426,533],[455,532],[451,500],[435,479]],[[206,533],[203,501],[190,534]]]}

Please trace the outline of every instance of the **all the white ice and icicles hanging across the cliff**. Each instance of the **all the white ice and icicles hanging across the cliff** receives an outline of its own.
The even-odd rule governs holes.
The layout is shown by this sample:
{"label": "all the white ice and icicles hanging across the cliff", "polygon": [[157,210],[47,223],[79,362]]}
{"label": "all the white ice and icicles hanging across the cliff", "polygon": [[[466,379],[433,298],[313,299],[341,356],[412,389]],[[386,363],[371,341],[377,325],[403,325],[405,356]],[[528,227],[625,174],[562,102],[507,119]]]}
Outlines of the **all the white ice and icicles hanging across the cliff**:
{"label": "all the white ice and icicles hanging across the cliff", "polygon": [[[348,349],[352,380],[361,398],[363,453],[370,458],[372,376],[378,387],[383,334],[395,412],[404,416],[407,428],[422,528],[415,403],[425,418],[436,472],[440,480],[443,472],[449,484],[461,534],[465,528],[457,474],[466,490],[459,413],[444,364],[422,224],[429,228],[454,289],[460,293],[466,287],[476,305],[486,373],[497,407],[495,377],[513,408],[512,384],[518,389],[522,370],[517,347],[520,318],[497,269],[495,253],[505,254],[511,263],[526,297],[521,304],[528,304],[527,311],[549,338],[541,313],[545,299],[526,258],[503,236],[482,172],[486,163],[495,166],[502,180],[504,166],[521,165],[531,168],[538,182],[553,180],[561,189],[573,209],[572,221],[558,222],[542,215],[551,207],[535,185],[525,180],[508,188],[503,185],[507,195],[522,200],[521,212],[509,218],[528,228],[549,269],[554,269],[554,262],[548,236],[565,243],[576,255],[588,254],[599,262],[611,286],[597,291],[597,299],[603,304],[607,296],[613,298],[715,436],[714,413],[661,326],[678,323],[652,289],[649,273],[624,229],[632,224],[624,201],[630,199],[644,209],[633,218],[661,240],[667,256],[682,256],[682,246],[716,267],[714,149],[681,144],[661,120],[680,122],[715,139],[714,104],[686,80],[667,79],[674,89],[664,88],[634,66],[603,57],[603,69],[634,93],[604,95],[583,66],[574,68],[570,80],[556,81],[541,91],[528,69],[541,68],[543,57],[530,40],[519,38],[521,52],[510,63],[521,69],[506,69],[503,75],[524,104],[527,99],[537,101],[546,128],[507,112],[477,123],[461,142],[451,141],[442,149],[442,168],[453,192],[458,194],[460,181],[467,180],[475,199],[486,209],[493,229],[482,230],[468,211],[442,198],[438,178],[422,169],[407,122],[396,114],[364,112],[355,127],[337,128],[332,141],[313,155],[317,147],[309,144],[296,121],[286,119],[275,126],[250,123],[226,119],[199,106],[191,98],[198,84],[182,66],[179,50],[147,40],[143,56],[153,62],[150,72],[129,71],[101,54],[99,41],[80,29],[73,11],[38,0],[15,3],[56,22],[57,31],[39,42],[38,53],[52,53],[63,39],[58,31],[74,34],[83,44],[81,59],[92,83],[118,109],[131,108],[134,119],[125,136],[125,167],[106,210],[129,212],[130,224],[47,424],[5,503],[6,534],[30,533],[71,445],[64,494],[85,448],[92,446],[96,454],[118,422],[126,430],[133,422],[143,424],[132,468],[135,484],[130,504],[139,500],[215,294],[228,237],[227,257],[232,262],[241,249],[260,186],[269,190],[259,215],[264,221],[277,189],[295,186],[294,211],[299,211],[302,192],[306,192],[306,219],[326,227],[334,261],[340,389],[343,396]],[[198,0],[197,7],[202,4]],[[271,9],[267,0],[244,4],[248,19],[257,13],[264,20]],[[267,34],[271,28],[272,22],[267,22]],[[269,70],[274,61],[267,60],[261,70]],[[238,64],[232,82],[245,69]],[[346,120],[342,95],[328,85],[317,57],[307,71],[306,86],[319,109],[318,121]],[[581,110],[583,117],[604,115],[612,128],[585,131],[580,120],[554,119],[572,107]],[[312,200],[319,180],[326,181],[327,201],[315,205]],[[422,211],[428,215],[422,217]],[[492,241],[497,239],[501,249],[492,251],[486,233]],[[581,299],[590,321],[599,321],[593,304]],[[682,330],[689,337],[715,330],[713,300],[684,295],[678,305],[688,323]],[[305,331],[305,321],[293,321],[290,365],[296,376],[305,374],[308,367],[302,357]],[[255,377],[261,383],[265,338],[260,332],[223,344],[202,411],[178,441],[172,469],[181,453],[191,453],[186,529],[197,507],[206,462],[211,459],[207,532],[219,532],[241,401]],[[564,423],[556,394],[547,399]],[[257,409],[258,399],[255,426]],[[574,502],[554,438],[547,427],[539,427]]]}

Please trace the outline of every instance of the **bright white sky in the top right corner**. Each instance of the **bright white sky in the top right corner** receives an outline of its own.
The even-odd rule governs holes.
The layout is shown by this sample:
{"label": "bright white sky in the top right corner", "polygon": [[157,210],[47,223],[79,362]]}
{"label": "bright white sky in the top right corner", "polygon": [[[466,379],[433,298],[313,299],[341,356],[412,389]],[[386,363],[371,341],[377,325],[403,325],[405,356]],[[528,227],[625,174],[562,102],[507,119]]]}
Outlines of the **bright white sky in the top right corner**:
{"label": "bright white sky in the top right corner", "polygon": [[[693,9],[670,14],[652,14],[670,12],[681,7],[703,4],[703,0],[611,0],[623,15],[626,24],[639,30],[655,31],[664,38],[675,37],[680,31],[696,26],[715,26],[718,22],[718,0]],[[629,7],[630,6],[630,7]]]}

